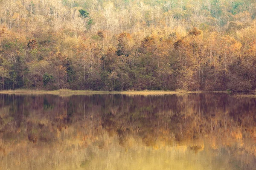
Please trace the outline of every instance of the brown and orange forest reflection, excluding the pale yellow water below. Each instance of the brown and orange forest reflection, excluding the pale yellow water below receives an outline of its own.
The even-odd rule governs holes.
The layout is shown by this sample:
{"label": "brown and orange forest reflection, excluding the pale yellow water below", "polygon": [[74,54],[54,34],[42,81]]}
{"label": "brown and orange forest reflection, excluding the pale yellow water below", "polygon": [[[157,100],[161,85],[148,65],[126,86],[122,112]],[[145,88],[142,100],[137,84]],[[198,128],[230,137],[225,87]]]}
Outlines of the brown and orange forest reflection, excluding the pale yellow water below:
{"label": "brown and orange forest reflection, excluding the pale yellow water below", "polygon": [[[135,140],[153,149],[178,145],[195,153],[210,147],[216,154],[227,152],[248,163],[256,156],[255,111],[256,99],[227,94],[0,95],[0,156],[27,153],[41,158],[33,152],[44,148],[41,154],[55,150],[58,157],[69,150],[70,157],[65,153],[65,158],[70,161],[73,152],[87,148],[89,159],[92,145],[108,149],[111,140],[116,140],[126,148]],[[82,160],[85,155],[79,156]],[[58,158],[50,166],[61,161],[67,160]]]}

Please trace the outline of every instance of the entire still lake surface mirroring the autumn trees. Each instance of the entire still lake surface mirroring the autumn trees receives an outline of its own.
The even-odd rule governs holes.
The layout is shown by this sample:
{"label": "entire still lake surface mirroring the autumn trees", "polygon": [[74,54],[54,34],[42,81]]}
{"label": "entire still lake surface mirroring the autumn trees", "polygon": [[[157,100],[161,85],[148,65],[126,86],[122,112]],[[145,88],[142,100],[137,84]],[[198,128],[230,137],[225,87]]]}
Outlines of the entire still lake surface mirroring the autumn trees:
{"label": "entire still lake surface mirroring the autumn trees", "polygon": [[1,170],[256,170],[256,98],[0,95]]}

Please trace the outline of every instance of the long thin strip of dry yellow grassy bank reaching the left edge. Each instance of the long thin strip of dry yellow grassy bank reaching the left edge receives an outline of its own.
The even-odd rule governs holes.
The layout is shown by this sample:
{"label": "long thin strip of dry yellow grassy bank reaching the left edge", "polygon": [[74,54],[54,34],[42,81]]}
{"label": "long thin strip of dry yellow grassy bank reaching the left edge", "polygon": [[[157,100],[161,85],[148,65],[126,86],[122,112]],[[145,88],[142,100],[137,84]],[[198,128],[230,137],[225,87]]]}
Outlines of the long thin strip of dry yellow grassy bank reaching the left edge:
{"label": "long thin strip of dry yellow grassy bank reaching the left edge", "polygon": [[53,94],[53,95],[92,95],[92,94],[125,94],[125,95],[165,95],[165,94],[186,94],[200,93],[200,91],[73,91],[61,89],[56,91],[41,91],[41,90],[8,90],[0,91],[0,94]]}

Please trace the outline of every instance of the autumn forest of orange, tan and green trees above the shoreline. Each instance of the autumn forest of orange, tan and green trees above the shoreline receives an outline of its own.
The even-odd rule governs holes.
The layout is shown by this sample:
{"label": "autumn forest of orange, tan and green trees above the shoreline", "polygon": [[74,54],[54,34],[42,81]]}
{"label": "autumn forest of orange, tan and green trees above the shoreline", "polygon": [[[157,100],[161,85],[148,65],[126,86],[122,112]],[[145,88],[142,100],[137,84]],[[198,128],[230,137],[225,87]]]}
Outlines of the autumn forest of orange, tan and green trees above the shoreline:
{"label": "autumn forest of orange, tan and green trees above the shoreline", "polygon": [[0,90],[256,89],[256,0],[0,0]]}

